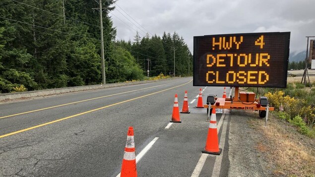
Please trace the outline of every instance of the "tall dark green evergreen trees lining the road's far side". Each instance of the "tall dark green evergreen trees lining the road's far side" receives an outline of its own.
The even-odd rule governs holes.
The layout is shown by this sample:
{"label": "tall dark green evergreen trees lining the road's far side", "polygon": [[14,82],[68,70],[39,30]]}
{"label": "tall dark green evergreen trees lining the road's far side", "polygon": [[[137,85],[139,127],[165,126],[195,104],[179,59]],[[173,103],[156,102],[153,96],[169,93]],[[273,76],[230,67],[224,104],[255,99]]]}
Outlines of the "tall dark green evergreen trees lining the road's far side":
{"label": "tall dark green evergreen trees lining the road's far side", "polygon": [[[37,90],[101,83],[100,19],[92,9],[97,2],[20,2],[0,1],[1,17],[7,18],[0,20],[0,93],[22,91],[21,85]],[[192,73],[192,55],[179,34],[164,32],[161,38],[141,37],[137,32],[133,42],[115,41],[116,29],[109,16],[115,0],[102,3],[107,83],[142,80],[148,67],[150,76],[168,75],[174,70],[172,49],[176,75]],[[56,15],[63,11],[68,18]]]}

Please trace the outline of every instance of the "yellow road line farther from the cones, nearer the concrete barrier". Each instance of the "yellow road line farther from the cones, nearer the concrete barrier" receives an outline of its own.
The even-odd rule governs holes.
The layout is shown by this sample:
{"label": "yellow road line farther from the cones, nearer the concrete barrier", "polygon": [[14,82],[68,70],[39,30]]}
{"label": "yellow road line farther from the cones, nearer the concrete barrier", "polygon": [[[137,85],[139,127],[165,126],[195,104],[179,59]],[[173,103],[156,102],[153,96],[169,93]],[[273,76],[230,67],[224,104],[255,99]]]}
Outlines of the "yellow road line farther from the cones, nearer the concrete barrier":
{"label": "yellow road line farther from the cones, nearer the concrete barrier", "polygon": [[[167,84],[169,84],[169,83],[167,83]],[[162,85],[167,85],[167,84],[162,84]],[[91,98],[91,99],[81,100],[81,101],[72,102],[72,103],[66,103],[66,104],[63,104],[63,105],[57,105],[57,106],[52,106],[52,107],[48,107],[48,108],[42,108],[42,109],[33,110],[33,111],[28,111],[28,112],[23,112],[23,113],[18,113],[18,114],[14,114],[14,115],[3,116],[3,117],[0,117],[0,119],[1,119],[1,118],[9,118],[9,117],[18,116],[18,115],[24,115],[24,114],[28,114],[28,113],[34,113],[34,112],[43,111],[43,110],[48,110],[48,109],[52,109],[52,108],[58,108],[58,107],[62,107],[62,106],[66,106],[66,105],[71,105],[71,104],[76,104],[76,103],[82,103],[82,102],[91,101],[91,100],[96,100],[96,99],[100,99],[100,98],[106,98],[106,97],[111,97],[111,96],[115,96],[115,95],[120,95],[120,94],[135,92],[135,91],[139,91],[139,90],[145,90],[145,89],[154,88],[154,87],[158,87],[158,86],[162,86],[162,85],[157,85],[157,86],[152,86],[152,87],[147,87],[147,88],[142,88],[142,89],[137,89],[137,90],[131,90],[131,91],[127,91],[127,92],[116,93],[116,94],[113,94],[113,95],[106,95],[106,96],[102,96],[102,97]]]}

